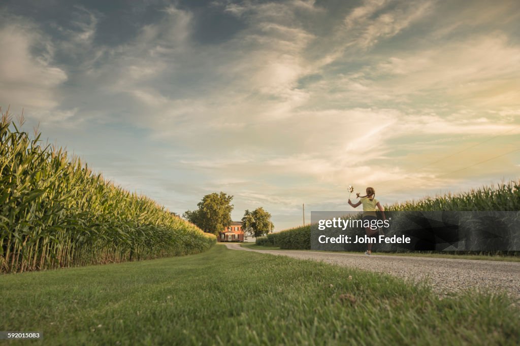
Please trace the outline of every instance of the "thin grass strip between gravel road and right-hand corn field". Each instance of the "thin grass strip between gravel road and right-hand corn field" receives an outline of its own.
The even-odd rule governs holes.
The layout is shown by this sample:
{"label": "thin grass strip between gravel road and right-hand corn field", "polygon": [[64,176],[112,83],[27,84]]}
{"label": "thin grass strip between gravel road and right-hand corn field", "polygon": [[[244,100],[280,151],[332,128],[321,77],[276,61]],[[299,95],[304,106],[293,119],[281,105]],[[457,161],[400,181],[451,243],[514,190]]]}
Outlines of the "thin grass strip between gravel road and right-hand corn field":
{"label": "thin grass strip between gravel road and right-hand corn field", "polygon": [[[255,250],[282,250],[277,246],[263,246],[255,243],[244,243],[241,246]],[[287,251],[287,250],[285,250]],[[290,251],[290,250],[289,250]],[[295,250],[295,251],[314,251],[314,252],[331,252],[320,250]],[[334,251],[342,254],[356,254],[361,252],[354,251]],[[503,261],[503,262],[520,262],[519,256],[500,256],[500,255],[451,255],[451,254],[432,254],[430,252],[373,252],[373,255],[388,256],[411,256],[411,257],[434,257],[434,258],[454,258],[454,259],[470,259],[470,260],[486,260],[486,261]]]}

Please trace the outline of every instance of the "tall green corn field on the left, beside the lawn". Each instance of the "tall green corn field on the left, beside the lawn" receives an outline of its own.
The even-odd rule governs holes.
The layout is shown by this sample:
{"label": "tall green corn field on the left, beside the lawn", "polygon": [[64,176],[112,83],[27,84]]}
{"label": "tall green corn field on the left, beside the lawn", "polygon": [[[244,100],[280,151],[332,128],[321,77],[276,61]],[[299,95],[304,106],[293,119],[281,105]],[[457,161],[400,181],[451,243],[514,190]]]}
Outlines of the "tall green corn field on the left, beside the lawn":
{"label": "tall green corn field on the left, beside the lawn", "polygon": [[204,251],[214,235],[93,174],[62,148],[0,122],[0,272]]}

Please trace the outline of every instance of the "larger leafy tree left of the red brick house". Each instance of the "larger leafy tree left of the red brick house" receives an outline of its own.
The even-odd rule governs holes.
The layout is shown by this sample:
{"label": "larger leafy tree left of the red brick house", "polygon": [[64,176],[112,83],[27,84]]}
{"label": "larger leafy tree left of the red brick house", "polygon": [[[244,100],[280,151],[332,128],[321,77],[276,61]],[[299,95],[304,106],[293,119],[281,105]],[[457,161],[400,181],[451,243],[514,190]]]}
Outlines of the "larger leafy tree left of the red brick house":
{"label": "larger leafy tree left of the red brick house", "polygon": [[183,217],[196,224],[204,232],[218,235],[231,223],[231,211],[233,205],[230,204],[233,196],[224,192],[205,195],[197,206],[197,210],[187,210]]}

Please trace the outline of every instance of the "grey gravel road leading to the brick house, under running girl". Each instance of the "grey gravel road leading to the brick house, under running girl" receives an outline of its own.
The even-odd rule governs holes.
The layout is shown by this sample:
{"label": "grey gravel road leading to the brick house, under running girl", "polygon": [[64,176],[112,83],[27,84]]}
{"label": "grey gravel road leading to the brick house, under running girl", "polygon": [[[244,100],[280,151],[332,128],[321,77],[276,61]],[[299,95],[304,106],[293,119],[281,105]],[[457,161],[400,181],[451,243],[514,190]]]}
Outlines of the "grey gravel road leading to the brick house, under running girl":
{"label": "grey gravel road leading to the brick house, under running girl", "polygon": [[262,252],[298,259],[310,259],[381,273],[392,274],[414,282],[427,281],[440,295],[466,288],[505,291],[520,299],[520,262],[463,260],[448,258],[344,254],[298,250],[256,250],[236,243],[229,249]]}

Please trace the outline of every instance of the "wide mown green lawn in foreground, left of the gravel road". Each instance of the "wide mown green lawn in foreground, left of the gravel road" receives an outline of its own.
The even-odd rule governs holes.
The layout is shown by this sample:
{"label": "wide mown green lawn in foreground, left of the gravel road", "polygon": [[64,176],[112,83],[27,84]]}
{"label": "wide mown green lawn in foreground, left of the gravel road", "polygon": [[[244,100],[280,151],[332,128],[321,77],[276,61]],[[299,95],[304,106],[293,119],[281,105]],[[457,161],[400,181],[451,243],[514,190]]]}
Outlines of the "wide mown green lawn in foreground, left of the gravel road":
{"label": "wide mown green lawn in foreground, left of the gravel road", "polygon": [[439,300],[389,275],[222,245],[3,275],[0,290],[0,330],[41,331],[42,344],[520,343],[505,295]]}

